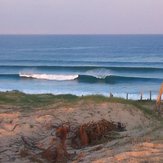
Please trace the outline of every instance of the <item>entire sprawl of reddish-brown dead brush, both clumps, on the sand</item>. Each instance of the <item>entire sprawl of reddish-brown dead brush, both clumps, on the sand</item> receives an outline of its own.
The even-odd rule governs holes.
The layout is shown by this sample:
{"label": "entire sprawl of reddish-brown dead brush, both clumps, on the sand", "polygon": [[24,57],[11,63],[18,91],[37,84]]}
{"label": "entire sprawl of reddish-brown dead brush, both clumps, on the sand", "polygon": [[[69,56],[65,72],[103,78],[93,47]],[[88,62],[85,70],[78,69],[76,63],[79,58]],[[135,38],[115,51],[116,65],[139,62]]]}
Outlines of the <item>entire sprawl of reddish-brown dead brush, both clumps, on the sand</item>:
{"label": "entire sprawl of reddish-brown dead brush, both clumps, on the sand", "polygon": [[[40,148],[37,142],[31,141],[26,137],[21,137],[24,149],[20,151],[22,157],[29,156],[29,158],[35,158],[41,162],[42,159],[46,159],[48,162],[66,163],[76,156],[76,153],[69,154],[67,152],[66,140],[68,133],[71,133],[71,146],[73,148],[81,148],[87,145],[97,144],[104,137],[111,134],[113,131],[124,131],[125,126],[118,122],[113,123],[105,119],[97,122],[88,122],[82,125],[78,125],[73,128],[69,123],[62,123],[55,128],[55,141],[50,143],[50,146],[46,149]],[[107,137],[109,140],[109,137]]]}

